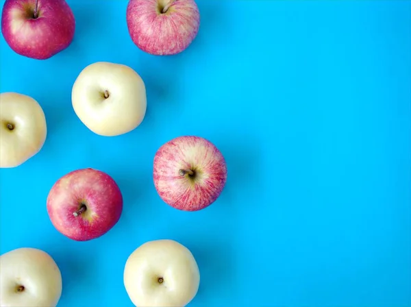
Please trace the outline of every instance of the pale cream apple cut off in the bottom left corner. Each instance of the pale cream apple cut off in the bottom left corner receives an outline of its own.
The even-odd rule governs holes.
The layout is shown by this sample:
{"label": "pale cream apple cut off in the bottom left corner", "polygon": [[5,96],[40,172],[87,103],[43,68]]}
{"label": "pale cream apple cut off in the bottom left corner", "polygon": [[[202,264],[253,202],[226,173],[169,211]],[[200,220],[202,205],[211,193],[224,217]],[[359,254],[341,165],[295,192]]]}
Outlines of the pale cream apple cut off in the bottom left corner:
{"label": "pale cream apple cut off in the bottom left corner", "polygon": [[62,275],[45,251],[22,247],[0,256],[0,306],[55,307]]}

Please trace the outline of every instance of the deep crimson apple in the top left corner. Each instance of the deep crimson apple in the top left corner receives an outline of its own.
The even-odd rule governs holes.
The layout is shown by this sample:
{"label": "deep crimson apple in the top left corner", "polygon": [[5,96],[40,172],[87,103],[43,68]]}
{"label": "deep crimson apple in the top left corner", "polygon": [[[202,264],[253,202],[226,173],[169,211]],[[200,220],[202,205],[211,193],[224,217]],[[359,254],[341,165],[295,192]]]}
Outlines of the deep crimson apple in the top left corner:
{"label": "deep crimson apple in the top left corner", "polygon": [[46,60],[69,47],[75,18],[64,0],[5,0],[1,32],[14,52]]}

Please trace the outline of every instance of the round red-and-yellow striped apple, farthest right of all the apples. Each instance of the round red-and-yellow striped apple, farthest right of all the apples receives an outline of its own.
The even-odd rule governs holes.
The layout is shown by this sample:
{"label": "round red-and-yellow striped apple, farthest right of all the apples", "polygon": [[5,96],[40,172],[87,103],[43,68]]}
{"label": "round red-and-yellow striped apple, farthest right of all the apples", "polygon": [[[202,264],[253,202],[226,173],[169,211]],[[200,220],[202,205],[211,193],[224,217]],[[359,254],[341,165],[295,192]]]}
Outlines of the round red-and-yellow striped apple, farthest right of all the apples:
{"label": "round red-and-yellow striped apple, farthest right of all the apples", "polygon": [[220,196],[227,180],[227,165],[210,141],[199,136],[179,136],[155,153],[153,179],[166,204],[197,211]]}

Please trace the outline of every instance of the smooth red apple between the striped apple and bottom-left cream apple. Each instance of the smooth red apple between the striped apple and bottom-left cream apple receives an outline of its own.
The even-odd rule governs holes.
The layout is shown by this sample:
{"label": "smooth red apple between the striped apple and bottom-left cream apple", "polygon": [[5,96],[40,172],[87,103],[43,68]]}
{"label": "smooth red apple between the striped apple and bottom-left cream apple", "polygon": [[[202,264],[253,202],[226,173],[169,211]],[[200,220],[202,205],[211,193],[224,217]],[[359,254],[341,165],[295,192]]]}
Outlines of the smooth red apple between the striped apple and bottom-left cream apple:
{"label": "smooth red apple between the striped apple and bottom-left cream apple", "polygon": [[[74,212],[86,205],[86,211]],[[54,227],[75,241],[102,236],[116,225],[123,211],[119,186],[107,173],[78,169],[61,177],[47,197],[47,212]]]}

